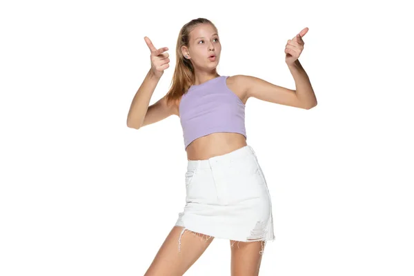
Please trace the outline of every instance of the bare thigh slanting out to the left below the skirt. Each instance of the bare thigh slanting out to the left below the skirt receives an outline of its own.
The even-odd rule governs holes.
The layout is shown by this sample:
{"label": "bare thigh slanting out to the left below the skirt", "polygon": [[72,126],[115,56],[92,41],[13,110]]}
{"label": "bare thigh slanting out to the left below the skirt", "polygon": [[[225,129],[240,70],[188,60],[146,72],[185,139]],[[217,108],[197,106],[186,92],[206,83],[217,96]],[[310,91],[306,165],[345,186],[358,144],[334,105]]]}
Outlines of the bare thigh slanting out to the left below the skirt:
{"label": "bare thigh slanting out to the left below the skirt", "polygon": [[[200,235],[189,230],[185,230],[181,235],[182,230],[181,226],[172,228],[144,276],[184,275],[213,242],[214,237]],[[179,244],[180,235],[181,243]],[[181,248],[180,251],[178,246]]]}

